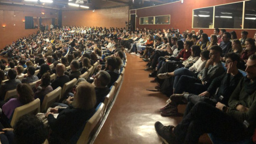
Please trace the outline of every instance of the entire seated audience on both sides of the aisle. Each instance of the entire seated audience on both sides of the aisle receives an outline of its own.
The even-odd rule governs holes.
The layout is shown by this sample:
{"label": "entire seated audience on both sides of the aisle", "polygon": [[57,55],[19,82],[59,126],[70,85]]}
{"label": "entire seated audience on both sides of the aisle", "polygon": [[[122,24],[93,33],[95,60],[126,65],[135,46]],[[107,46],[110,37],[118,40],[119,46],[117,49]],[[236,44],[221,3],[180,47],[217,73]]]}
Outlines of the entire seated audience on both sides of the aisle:
{"label": "entire seated audience on both sides of the aisle", "polygon": [[[223,88],[224,85],[233,85],[227,87],[229,92],[234,90],[236,88],[234,85],[238,83],[237,79],[241,79],[239,77],[241,76],[239,75],[240,73],[237,73],[238,68],[246,68],[248,70],[248,67],[252,69],[252,66],[254,66],[255,59],[252,57],[256,52],[256,34],[254,38],[247,38],[246,32],[242,32],[242,35],[246,36],[242,36],[242,39],[239,40],[236,39],[236,33],[229,33],[225,29],[219,30],[218,28],[214,29],[210,39],[207,34],[203,33],[202,29],[198,30],[197,33],[194,30],[191,33],[185,31],[182,35],[171,29],[164,29],[162,32],[161,29],[150,30],[146,28],[129,31],[119,28],[62,27],[60,29],[51,29],[50,31],[38,31],[37,34],[21,37],[1,50],[1,54],[8,57],[8,62],[1,60],[3,65],[7,67],[1,68],[0,80],[4,81],[6,76],[9,79],[9,81],[0,86],[1,100],[4,100],[6,91],[17,89],[17,85],[37,81],[33,96],[34,99],[39,98],[42,103],[45,94],[58,86],[63,87],[66,82],[74,78],[78,79],[79,83],[74,87],[73,91],[70,91],[73,94],[69,94],[70,97],[66,100],[67,103],[60,103],[60,106],[66,105],[68,109],[52,109],[51,113],[46,114],[53,130],[51,136],[56,138],[53,139],[53,142],[68,141],[77,129],[67,134],[63,133],[60,127],[67,123],[69,127],[81,126],[82,122],[70,122],[73,121],[73,116],[83,111],[88,111],[88,113],[84,114],[83,120],[86,121],[90,118],[91,114],[94,113],[93,109],[97,107],[98,103],[103,102],[103,98],[109,92],[111,85],[121,73],[121,69],[125,64],[126,56],[124,50],[126,50],[148,62],[148,68],[145,70],[153,70],[153,73],[149,76],[154,77],[151,82],[157,82],[157,91],[165,93],[168,97],[174,93],[167,101],[167,105],[160,109],[162,116],[177,116],[177,106],[184,103],[191,103],[189,105],[190,109],[187,111],[188,114],[185,114],[190,121],[191,117],[194,116],[193,114],[196,113],[190,114],[190,111],[192,113],[198,110],[196,109],[198,107],[210,107],[209,105],[213,106],[216,103],[218,108],[222,109],[224,107],[228,109],[227,111],[230,111],[230,115],[236,113],[234,108],[246,112],[253,105],[253,99],[248,103],[238,103],[239,105],[234,105],[234,102],[230,104],[227,99],[229,97],[232,98],[233,95],[230,93],[225,95],[227,90]],[[235,56],[234,53],[236,53]],[[239,59],[236,59],[237,57]],[[79,76],[89,70],[97,61],[99,61],[100,65],[97,67],[97,72],[92,76],[94,80],[91,78],[81,80]],[[221,61],[226,62],[226,68],[222,66]],[[0,64],[2,64],[1,62]],[[23,70],[18,67],[23,67]],[[227,69],[226,72],[225,69]],[[35,76],[36,70],[39,70],[37,76]],[[24,78],[21,81],[17,78],[17,73],[20,76],[22,75],[22,72],[20,73],[19,71],[23,71],[24,74]],[[250,77],[247,76],[247,78],[253,80],[253,70],[248,71],[250,71],[251,76],[249,75]],[[249,74],[248,71],[247,74]],[[53,73],[57,75],[57,78],[51,82],[50,75]],[[38,81],[39,79],[40,81]],[[186,83],[188,79],[190,79],[189,83]],[[246,78],[243,79],[246,80]],[[94,89],[91,89],[91,84],[80,81],[92,83]],[[243,84],[246,85],[246,89],[250,89],[249,94],[251,95],[254,90],[251,86],[252,84],[247,84],[247,81]],[[243,84],[241,84],[242,87]],[[212,94],[217,87],[220,87],[218,94],[213,97]],[[80,89],[94,91],[88,96],[89,101],[80,100],[80,97],[82,98],[85,95],[85,93],[81,93]],[[191,94],[181,94],[183,92]],[[237,93],[239,96],[239,91]],[[195,101],[203,101],[204,103],[197,106]],[[8,102],[8,100],[4,102]],[[85,104],[83,102],[91,103],[85,108],[82,106]],[[220,102],[224,104],[220,104]],[[217,110],[215,109],[215,111]],[[209,113],[206,110],[200,112]],[[60,116],[54,118],[51,115],[52,113],[60,113]],[[69,113],[71,116],[67,115]],[[250,116],[252,116],[251,113]],[[246,118],[243,117],[243,120],[250,120],[251,123],[251,119]],[[64,119],[67,119],[67,121]],[[165,129],[166,127],[159,122],[155,126],[158,135],[163,140],[166,138],[165,134],[168,135],[169,139],[181,142],[190,136],[186,136],[187,133],[180,131],[180,133],[176,134],[178,129],[175,130],[174,126],[167,127],[167,132],[170,133],[163,132],[162,128]],[[252,121],[251,126],[254,126],[254,121]],[[173,129],[175,134],[172,131]],[[193,127],[190,127],[190,129],[186,127],[186,130],[193,131],[194,129]],[[203,132],[202,130],[198,133],[202,134]],[[215,131],[210,132],[215,134]],[[169,139],[167,139],[167,142],[170,142]]]}

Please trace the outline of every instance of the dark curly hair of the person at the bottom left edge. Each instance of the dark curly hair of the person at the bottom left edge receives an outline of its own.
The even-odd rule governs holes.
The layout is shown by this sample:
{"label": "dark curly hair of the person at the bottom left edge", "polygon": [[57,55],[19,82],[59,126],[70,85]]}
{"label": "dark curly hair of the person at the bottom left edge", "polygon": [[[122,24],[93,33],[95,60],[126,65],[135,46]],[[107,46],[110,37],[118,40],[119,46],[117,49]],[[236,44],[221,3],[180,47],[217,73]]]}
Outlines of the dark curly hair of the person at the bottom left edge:
{"label": "dark curly hair of the person at the bottom left edge", "polygon": [[34,115],[23,115],[14,125],[14,141],[18,144],[42,144],[47,138],[43,122]]}

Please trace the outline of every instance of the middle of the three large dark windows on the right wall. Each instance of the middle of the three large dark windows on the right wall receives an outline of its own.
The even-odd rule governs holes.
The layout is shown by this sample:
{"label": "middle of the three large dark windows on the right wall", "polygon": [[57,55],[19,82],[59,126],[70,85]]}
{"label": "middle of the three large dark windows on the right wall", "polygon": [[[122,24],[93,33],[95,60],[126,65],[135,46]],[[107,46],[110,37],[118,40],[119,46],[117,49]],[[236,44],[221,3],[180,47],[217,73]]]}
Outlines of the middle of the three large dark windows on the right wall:
{"label": "middle of the three large dark windows on the right wall", "polygon": [[215,6],[215,28],[242,28],[243,2]]}

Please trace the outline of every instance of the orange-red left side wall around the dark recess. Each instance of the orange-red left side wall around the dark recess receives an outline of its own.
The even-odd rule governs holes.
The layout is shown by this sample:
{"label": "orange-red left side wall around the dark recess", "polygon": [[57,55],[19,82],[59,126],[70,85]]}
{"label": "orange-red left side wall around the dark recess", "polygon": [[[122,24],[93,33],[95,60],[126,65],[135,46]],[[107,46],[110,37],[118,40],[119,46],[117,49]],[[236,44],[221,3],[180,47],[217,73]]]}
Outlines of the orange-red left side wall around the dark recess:
{"label": "orange-red left side wall around the dark recess", "polygon": [[[41,12],[45,12],[45,14],[43,15]],[[16,15],[15,17],[13,16],[14,13]],[[0,50],[6,44],[11,44],[20,37],[36,33],[38,29],[25,29],[25,22],[22,22],[25,19],[24,16],[58,18],[58,12],[43,8],[0,5]],[[5,28],[2,27],[4,23],[6,25]],[[36,24],[34,23],[34,25]]]}

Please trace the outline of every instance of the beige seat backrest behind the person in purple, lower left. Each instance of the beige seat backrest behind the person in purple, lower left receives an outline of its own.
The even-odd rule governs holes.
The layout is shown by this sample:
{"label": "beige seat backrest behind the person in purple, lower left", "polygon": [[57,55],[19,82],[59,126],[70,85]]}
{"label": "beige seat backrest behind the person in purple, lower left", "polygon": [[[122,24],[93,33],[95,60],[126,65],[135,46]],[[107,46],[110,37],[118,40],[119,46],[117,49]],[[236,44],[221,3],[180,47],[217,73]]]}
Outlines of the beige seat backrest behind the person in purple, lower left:
{"label": "beige seat backrest behind the person in purple, lower left", "polygon": [[14,124],[18,121],[18,119],[26,114],[34,114],[40,112],[40,100],[37,98],[32,102],[27,103],[21,107],[15,108],[13,112],[13,117],[11,121],[11,126],[13,127]]}

